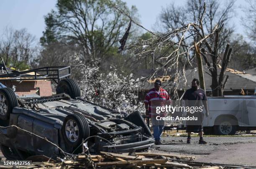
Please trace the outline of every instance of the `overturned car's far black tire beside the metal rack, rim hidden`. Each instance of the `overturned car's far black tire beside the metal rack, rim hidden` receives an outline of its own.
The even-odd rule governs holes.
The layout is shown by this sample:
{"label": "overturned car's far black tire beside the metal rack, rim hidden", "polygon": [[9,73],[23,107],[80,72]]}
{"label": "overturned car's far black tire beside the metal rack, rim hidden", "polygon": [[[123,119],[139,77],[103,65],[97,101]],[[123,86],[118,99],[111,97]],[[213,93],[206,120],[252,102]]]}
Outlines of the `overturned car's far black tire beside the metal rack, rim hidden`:
{"label": "overturned car's far black tire beside the metal rack, rim hidden", "polygon": [[71,78],[61,80],[56,88],[56,93],[67,93],[71,98],[81,96],[81,92],[77,83]]}

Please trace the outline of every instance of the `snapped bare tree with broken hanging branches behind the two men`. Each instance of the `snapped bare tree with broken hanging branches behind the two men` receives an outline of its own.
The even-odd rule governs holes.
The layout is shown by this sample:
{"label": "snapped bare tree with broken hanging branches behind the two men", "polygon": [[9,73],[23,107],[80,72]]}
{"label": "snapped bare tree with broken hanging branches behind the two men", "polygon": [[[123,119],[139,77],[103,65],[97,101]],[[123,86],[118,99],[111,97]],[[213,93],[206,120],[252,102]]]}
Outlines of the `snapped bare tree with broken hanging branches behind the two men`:
{"label": "snapped bare tree with broken hanging branches behind the two men", "polygon": [[[120,13],[131,18],[127,13],[123,12],[120,8],[116,7]],[[201,9],[202,8],[202,9]],[[168,70],[173,73],[172,84],[174,92],[177,92],[177,87],[181,78],[185,78],[185,68],[188,64],[191,64],[192,59],[195,56],[195,46],[198,48],[198,52],[202,54],[207,69],[212,76],[212,94],[213,96],[220,96],[223,94],[223,89],[228,77],[225,77],[225,69],[230,60],[232,49],[229,45],[225,48],[223,58],[221,58],[220,49],[220,33],[223,30],[223,22],[220,25],[216,24],[214,27],[208,30],[203,26],[203,18],[206,15],[206,4],[200,6],[200,15],[198,15],[197,23],[189,23],[179,28],[169,29],[166,33],[152,33],[152,38],[148,40],[142,40],[137,44],[132,45],[130,48],[138,58],[145,58],[148,55],[152,56],[153,62],[161,62],[155,72],[151,75],[152,78],[159,71],[166,73]],[[143,28],[143,27],[142,27]],[[193,37],[193,38],[192,38]],[[191,40],[192,38],[192,40]],[[192,41],[194,44],[187,43]],[[164,51],[164,52],[163,52]],[[156,58],[156,54],[159,53],[159,57]],[[210,57],[212,63],[208,61]],[[218,65],[222,61],[222,69],[218,74]],[[187,81],[185,80],[185,83]],[[176,95],[177,96],[177,95]],[[175,97],[175,95],[174,95]]]}

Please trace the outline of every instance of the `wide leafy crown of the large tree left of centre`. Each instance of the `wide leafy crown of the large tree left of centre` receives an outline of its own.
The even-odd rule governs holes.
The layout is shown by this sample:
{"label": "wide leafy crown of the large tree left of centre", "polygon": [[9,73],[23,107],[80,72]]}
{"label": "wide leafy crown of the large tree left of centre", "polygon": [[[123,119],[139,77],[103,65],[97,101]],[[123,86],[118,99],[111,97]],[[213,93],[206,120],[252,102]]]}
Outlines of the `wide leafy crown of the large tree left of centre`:
{"label": "wide leafy crown of the large tree left of centre", "polygon": [[[114,4],[125,5],[120,0]],[[46,15],[42,45],[74,42],[86,58],[103,58],[123,36],[129,19],[116,13],[109,0],[58,0],[57,10]],[[136,13],[133,6],[131,13]]]}

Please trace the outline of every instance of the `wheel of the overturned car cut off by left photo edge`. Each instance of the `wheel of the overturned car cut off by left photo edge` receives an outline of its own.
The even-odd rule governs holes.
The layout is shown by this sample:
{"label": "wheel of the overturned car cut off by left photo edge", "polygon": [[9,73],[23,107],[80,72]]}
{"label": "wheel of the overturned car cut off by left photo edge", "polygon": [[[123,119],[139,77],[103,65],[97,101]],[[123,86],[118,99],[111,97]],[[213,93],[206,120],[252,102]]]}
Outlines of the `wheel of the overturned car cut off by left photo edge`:
{"label": "wheel of the overturned car cut off by left photo edge", "polygon": [[[4,98],[4,99],[3,99]],[[17,97],[11,88],[1,88],[0,89],[0,119],[8,121],[10,119],[10,113],[12,113],[13,108],[18,106]],[[4,100],[4,102],[3,102]],[[2,106],[4,111],[2,112]],[[7,108],[4,108],[6,107]]]}

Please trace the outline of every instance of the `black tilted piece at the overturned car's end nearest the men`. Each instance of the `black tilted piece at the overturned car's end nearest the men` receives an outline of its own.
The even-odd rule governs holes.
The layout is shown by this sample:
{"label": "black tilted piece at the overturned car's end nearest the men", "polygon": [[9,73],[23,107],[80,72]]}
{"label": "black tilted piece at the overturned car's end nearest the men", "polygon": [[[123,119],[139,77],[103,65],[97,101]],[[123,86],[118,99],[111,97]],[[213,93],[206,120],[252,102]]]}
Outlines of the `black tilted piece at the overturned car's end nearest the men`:
{"label": "black tilted piece at the overturned car's end nearest the men", "polygon": [[132,114],[126,117],[125,120],[132,122],[136,126],[141,126],[145,134],[153,136],[139,111],[134,111]]}

